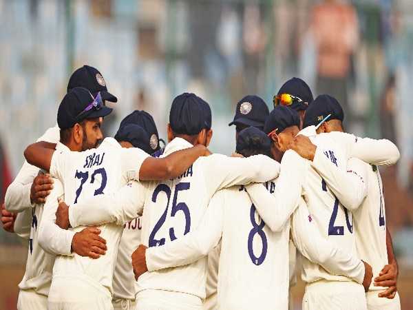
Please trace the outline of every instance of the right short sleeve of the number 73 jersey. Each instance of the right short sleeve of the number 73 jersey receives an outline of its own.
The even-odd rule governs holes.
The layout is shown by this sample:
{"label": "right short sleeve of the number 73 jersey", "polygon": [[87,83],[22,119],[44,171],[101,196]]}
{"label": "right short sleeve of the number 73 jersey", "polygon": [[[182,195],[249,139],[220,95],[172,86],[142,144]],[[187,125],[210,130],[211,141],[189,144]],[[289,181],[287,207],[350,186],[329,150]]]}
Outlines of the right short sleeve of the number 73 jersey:
{"label": "right short sleeve of the number 73 jersey", "polygon": [[139,180],[140,166],[150,155],[138,147],[123,147],[120,152],[122,175],[127,181]]}

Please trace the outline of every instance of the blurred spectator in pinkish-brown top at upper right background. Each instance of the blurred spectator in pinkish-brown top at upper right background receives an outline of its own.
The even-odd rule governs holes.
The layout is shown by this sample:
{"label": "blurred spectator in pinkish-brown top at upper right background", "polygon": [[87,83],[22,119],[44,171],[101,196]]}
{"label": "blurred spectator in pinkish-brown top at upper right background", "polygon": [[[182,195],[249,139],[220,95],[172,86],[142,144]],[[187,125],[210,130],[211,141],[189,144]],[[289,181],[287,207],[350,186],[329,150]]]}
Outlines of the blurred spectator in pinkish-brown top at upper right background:
{"label": "blurred spectator in pinkish-brown top at upper right background", "polygon": [[349,114],[347,85],[351,56],[359,40],[357,13],[347,3],[325,0],[313,9],[311,27],[317,48],[317,93],[331,94]]}

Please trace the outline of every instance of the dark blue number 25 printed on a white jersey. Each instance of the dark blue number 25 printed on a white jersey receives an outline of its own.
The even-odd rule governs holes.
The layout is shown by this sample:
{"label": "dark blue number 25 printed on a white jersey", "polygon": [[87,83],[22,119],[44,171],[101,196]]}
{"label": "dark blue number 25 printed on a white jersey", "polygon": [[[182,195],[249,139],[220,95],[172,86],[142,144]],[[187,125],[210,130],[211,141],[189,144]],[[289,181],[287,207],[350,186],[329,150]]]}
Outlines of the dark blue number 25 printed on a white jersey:
{"label": "dark blue number 25 printed on a white jersey", "polygon": [[[189,189],[190,187],[191,187],[190,183],[186,183],[186,182],[178,183],[175,187],[175,192],[173,193],[173,199],[172,199],[171,217],[175,216],[176,212],[178,211],[182,211],[184,213],[184,216],[185,216],[184,234],[188,234],[189,229],[191,229],[191,214],[189,213],[189,208],[186,203],[177,203],[178,192],[185,191]],[[159,231],[160,227],[162,227],[162,225],[165,223],[165,220],[167,219],[169,200],[171,198],[171,189],[165,184],[158,185],[152,194],[153,203],[156,203],[156,197],[158,196],[160,192],[165,192],[165,194],[167,194],[168,202],[167,202],[167,207],[165,208],[164,213],[162,213],[158,222],[156,222],[156,225],[153,227],[153,231],[149,235],[149,242],[148,242],[149,247],[165,245],[165,238],[160,238],[160,240],[156,240],[155,235]],[[171,241],[176,239],[175,230],[173,229],[173,227],[169,228],[169,238],[171,239]]]}

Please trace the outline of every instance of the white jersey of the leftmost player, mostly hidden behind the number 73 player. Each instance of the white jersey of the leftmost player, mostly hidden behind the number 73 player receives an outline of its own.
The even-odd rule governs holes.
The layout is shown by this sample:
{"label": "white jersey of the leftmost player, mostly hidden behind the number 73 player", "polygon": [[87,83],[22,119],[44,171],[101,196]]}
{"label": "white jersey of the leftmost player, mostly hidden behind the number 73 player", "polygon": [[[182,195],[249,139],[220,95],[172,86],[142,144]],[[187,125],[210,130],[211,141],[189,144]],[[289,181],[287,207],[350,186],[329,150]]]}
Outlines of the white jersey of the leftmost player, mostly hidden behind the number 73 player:
{"label": "white jersey of the leftmost player, mostly hidden behind the number 73 player", "polygon": [[[57,143],[59,141],[59,127],[50,127],[43,136],[37,141],[47,141],[50,143]],[[64,145],[59,144],[56,149],[64,149]],[[19,289],[29,290],[33,289],[36,293],[47,296],[50,289],[50,282],[52,280],[52,268],[54,263],[54,256],[45,253],[38,243],[38,228],[42,220],[43,204],[36,205],[30,203],[30,187],[33,179],[37,176],[39,168],[27,163],[23,164],[17,177],[13,183],[8,187],[6,192],[6,208],[9,211],[19,211],[19,217],[24,214],[25,221],[30,220],[30,223],[24,223],[17,220],[15,222],[15,231],[19,231],[22,227],[30,225],[29,249],[28,258],[25,266],[25,273],[23,279],[19,283]]]}

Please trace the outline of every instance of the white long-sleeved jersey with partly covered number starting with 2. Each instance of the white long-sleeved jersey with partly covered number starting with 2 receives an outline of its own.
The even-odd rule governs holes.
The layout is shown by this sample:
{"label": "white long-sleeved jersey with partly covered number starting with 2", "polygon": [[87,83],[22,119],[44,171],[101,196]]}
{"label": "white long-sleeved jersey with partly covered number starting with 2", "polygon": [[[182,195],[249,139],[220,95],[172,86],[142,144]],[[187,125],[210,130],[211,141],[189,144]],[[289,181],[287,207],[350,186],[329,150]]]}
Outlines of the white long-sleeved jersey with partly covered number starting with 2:
{"label": "white long-sleeved jersey with partly covered number starting with 2", "polygon": [[[324,238],[327,238],[330,242],[335,242],[336,245],[352,256],[357,256],[352,214],[343,207],[340,202],[341,198],[339,200],[332,189],[334,188],[337,194],[337,192],[352,190],[356,183],[360,187],[365,187],[365,185],[357,175],[348,174],[350,178],[347,178],[347,184],[340,184],[339,180],[341,178],[335,178],[334,176],[339,173],[347,175],[348,158],[350,157],[389,165],[398,160],[399,150],[390,141],[358,138],[342,132],[319,134],[311,136],[310,139],[317,145],[313,162],[310,163],[310,161],[303,159],[307,165],[306,174],[303,176],[304,200],[308,205],[310,216],[317,223],[317,227]],[[323,169],[323,166],[326,169]],[[325,180],[321,178],[321,175],[317,173],[320,171],[330,172],[323,174],[328,178]],[[342,196],[345,199],[351,195],[354,195],[354,192]],[[357,196],[363,197],[363,190]],[[346,201],[346,204],[351,203],[352,201]],[[306,282],[314,282],[320,279],[350,280],[348,277],[328,273],[307,258],[303,260],[303,269],[302,278]]]}

